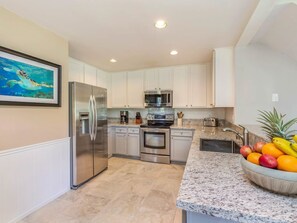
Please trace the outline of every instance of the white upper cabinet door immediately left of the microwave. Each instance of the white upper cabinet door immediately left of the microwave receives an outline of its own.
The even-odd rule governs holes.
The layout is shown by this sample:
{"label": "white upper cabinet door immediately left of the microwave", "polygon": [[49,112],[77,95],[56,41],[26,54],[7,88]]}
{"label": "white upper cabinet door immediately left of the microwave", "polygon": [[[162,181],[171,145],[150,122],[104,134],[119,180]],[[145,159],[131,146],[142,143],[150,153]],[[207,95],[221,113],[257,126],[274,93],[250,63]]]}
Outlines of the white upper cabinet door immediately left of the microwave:
{"label": "white upper cabinet door immediately left of the microwave", "polygon": [[142,70],[127,73],[127,107],[144,107],[143,79],[144,71]]}

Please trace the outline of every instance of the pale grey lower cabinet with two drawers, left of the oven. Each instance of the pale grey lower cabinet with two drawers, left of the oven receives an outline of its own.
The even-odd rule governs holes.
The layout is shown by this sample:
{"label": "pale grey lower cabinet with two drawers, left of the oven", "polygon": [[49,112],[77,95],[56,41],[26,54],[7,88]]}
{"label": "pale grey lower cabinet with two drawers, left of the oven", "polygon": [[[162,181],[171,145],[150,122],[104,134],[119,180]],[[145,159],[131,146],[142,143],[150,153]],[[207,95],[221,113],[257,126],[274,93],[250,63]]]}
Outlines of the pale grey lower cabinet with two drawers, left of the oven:
{"label": "pale grey lower cabinet with two drawers, left of the oven", "polygon": [[139,128],[116,128],[115,153],[119,155],[140,156]]}

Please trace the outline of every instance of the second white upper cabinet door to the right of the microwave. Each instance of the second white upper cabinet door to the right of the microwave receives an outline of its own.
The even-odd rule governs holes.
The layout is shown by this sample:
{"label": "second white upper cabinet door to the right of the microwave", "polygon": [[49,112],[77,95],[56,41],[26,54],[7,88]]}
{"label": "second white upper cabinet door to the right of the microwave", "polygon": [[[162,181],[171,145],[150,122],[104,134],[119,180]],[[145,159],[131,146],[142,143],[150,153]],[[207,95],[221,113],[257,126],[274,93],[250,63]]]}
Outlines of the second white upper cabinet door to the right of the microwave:
{"label": "second white upper cabinet door to the right of the microwave", "polygon": [[206,107],[206,65],[190,65],[189,106]]}

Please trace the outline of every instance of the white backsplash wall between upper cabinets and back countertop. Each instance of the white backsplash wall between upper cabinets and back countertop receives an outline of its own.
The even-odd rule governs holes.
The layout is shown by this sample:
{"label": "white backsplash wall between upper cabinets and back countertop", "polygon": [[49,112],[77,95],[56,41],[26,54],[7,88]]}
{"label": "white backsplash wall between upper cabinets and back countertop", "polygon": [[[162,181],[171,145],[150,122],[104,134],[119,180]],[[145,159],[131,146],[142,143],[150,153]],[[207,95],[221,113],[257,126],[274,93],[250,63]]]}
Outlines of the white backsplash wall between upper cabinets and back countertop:
{"label": "white backsplash wall between upper cabinets and back countertop", "polygon": [[[146,118],[148,109],[108,109],[109,118],[120,118],[120,111],[129,111],[129,117],[135,118],[136,112],[140,112],[142,118]],[[176,116],[177,112],[182,111],[184,119],[203,119],[206,117],[216,117],[225,119],[225,108],[191,108],[191,109],[173,109]]]}

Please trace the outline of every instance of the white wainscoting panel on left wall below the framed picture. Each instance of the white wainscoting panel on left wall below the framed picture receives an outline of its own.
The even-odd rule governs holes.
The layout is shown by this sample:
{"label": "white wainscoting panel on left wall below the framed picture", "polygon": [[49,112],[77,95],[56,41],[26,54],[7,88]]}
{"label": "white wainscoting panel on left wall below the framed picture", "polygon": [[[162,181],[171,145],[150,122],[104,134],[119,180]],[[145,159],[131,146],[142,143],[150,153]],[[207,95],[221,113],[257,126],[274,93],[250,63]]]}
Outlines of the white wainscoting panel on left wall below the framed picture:
{"label": "white wainscoting panel on left wall below the framed picture", "polygon": [[0,222],[16,222],[70,190],[69,138],[0,152]]}

